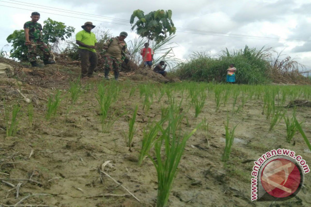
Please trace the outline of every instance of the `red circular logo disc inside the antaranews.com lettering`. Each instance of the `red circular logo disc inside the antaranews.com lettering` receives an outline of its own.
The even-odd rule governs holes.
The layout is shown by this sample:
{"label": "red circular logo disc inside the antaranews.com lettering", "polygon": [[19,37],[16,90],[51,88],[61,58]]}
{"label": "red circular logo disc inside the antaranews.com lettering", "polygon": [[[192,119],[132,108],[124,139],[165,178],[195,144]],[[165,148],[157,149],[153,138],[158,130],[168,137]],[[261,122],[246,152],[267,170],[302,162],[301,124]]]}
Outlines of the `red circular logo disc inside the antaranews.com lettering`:
{"label": "red circular logo disc inside the antaranews.com lettering", "polygon": [[262,187],[276,198],[292,195],[297,191],[300,182],[301,175],[296,164],[283,158],[270,161],[261,173]]}

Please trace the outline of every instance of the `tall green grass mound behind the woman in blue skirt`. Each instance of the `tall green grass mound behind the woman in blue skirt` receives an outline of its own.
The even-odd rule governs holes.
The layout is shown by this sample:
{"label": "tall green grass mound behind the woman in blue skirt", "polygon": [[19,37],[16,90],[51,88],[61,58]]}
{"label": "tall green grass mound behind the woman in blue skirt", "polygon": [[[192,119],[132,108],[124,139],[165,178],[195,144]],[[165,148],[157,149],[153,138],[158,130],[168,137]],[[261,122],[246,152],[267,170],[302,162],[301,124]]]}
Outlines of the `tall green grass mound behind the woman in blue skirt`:
{"label": "tall green grass mound behind the woman in blue skirt", "polygon": [[193,81],[225,82],[227,69],[231,63],[238,69],[236,83],[256,84],[269,82],[271,68],[271,49],[256,49],[245,46],[244,49],[229,52],[224,50],[218,57],[195,52],[181,63],[175,74],[181,79]]}

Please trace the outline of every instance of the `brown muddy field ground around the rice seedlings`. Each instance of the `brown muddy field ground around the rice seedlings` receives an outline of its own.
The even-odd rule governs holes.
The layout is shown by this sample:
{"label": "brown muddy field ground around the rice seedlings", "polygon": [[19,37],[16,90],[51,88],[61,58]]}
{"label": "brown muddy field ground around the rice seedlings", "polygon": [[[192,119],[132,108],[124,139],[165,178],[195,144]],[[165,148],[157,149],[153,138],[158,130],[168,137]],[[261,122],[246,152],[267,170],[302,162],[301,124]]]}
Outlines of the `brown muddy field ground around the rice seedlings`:
{"label": "brown muddy field ground around the rice seedlings", "polygon": [[[139,77],[142,74],[136,74],[134,78],[123,74],[117,83],[121,86],[121,91],[108,115],[109,119],[119,119],[109,132],[103,133],[100,110],[95,97],[97,84],[103,81],[102,73],[81,82],[83,92],[68,111],[69,81],[73,81],[78,73],[78,67],[50,66],[39,71],[25,70],[20,74],[23,83],[21,86],[16,86],[14,81],[1,83],[0,180],[15,186],[0,183],[1,205],[155,206],[156,170],[148,158],[143,161],[142,166],[137,166],[137,159],[143,129],[148,123],[160,119],[161,106],[168,105],[168,98],[164,95],[158,101],[155,97],[149,112],[145,113],[142,110],[143,97],[140,97],[138,87],[141,84],[152,83],[157,90],[164,86],[176,89],[183,83],[157,83],[159,81],[153,79],[141,80]],[[106,81],[105,84],[112,82]],[[137,89],[129,96],[134,87]],[[28,103],[17,89],[20,89],[26,98],[31,99],[34,106],[31,126],[27,116]],[[55,94],[57,89],[62,91],[62,101],[57,116],[47,121],[47,99],[50,94]],[[261,99],[247,100],[242,110],[231,115],[232,97],[229,97],[226,106],[221,103],[220,109],[215,112],[216,104],[211,93],[206,98],[202,112],[194,118],[194,108],[189,108],[187,93],[174,92],[174,97],[177,101],[183,99],[182,106],[187,117],[182,123],[183,132],[190,132],[204,117],[208,123],[208,130],[200,127],[188,140],[169,197],[169,206],[311,206],[310,173],[304,177],[303,189],[290,200],[275,203],[250,201],[253,161],[263,153],[278,148],[290,149],[301,155],[311,166],[311,152],[300,133],[295,134],[294,142],[287,143],[283,120],[269,132],[269,122],[262,114]],[[5,136],[3,98],[6,99],[7,108],[16,103],[21,106],[18,116],[19,128],[14,137]],[[286,100],[286,104],[289,101]],[[125,135],[128,133],[128,119],[137,104],[137,133],[129,151]],[[238,99],[236,107],[240,104],[241,100]],[[293,108],[285,110],[291,114]],[[230,128],[236,124],[238,126],[234,134],[235,141],[230,160],[224,164],[221,156],[225,146],[224,122],[228,114]],[[310,138],[311,107],[297,107],[296,117],[299,121],[304,121],[304,132]],[[98,168],[109,160],[112,165],[107,165],[103,170],[119,184],[103,174],[101,181]],[[16,187],[19,189],[18,198]],[[25,200],[21,200],[25,197]]]}

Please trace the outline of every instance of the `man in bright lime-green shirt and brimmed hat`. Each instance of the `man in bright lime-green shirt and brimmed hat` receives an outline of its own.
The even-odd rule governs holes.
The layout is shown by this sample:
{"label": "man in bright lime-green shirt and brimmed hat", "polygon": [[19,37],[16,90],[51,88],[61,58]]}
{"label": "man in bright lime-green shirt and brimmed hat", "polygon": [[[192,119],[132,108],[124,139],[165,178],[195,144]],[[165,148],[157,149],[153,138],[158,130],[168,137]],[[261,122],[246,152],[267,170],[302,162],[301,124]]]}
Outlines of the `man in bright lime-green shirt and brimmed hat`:
{"label": "man in bright lime-green shirt and brimmed hat", "polygon": [[[81,78],[93,76],[95,67],[97,66],[97,43],[95,34],[91,30],[95,27],[92,22],[86,22],[81,26],[83,30],[76,34],[76,43],[79,45],[79,54],[81,57]],[[88,64],[90,66],[88,67]]]}

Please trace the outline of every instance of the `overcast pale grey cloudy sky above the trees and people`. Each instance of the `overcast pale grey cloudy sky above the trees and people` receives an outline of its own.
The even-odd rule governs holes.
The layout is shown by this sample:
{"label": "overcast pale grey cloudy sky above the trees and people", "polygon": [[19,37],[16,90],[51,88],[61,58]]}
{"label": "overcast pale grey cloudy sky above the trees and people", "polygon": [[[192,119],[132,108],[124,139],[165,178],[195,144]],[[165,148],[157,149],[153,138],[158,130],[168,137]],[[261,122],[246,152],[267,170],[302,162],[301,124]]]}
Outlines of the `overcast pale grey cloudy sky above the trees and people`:
{"label": "overcast pale grey cloudy sky above the trees and people", "polygon": [[[311,69],[311,0],[32,0],[31,4],[26,3],[27,6],[21,5],[25,2],[26,0],[0,1],[0,5],[2,5],[0,6],[2,20],[0,49],[7,44],[6,38],[9,34],[15,29],[23,29],[24,23],[30,20],[32,11],[38,11],[41,14],[39,20],[41,24],[50,17],[53,20],[64,22],[65,25],[75,27],[78,32],[84,22],[92,21],[94,25],[110,29],[114,36],[117,36],[120,31],[128,32],[129,36],[126,40],[129,41],[135,37],[129,24],[133,10],[141,9],[145,13],[149,13],[158,9],[171,9],[173,11],[172,19],[177,28],[215,32],[177,29],[174,42],[179,47],[174,52],[178,58],[185,59],[196,51],[214,55],[226,47],[232,51],[244,48],[245,45],[257,48],[265,46],[274,47],[278,52],[283,51],[284,54],[290,55],[296,61],[306,65],[308,70]],[[42,7],[39,5],[50,8],[38,8]],[[67,11],[54,11],[58,9]],[[81,13],[77,14],[74,11]],[[123,21],[88,16],[85,13],[122,19]],[[237,38],[228,34],[247,36]],[[258,39],[252,36],[277,39]],[[288,39],[298,41],[289,41]]]}

